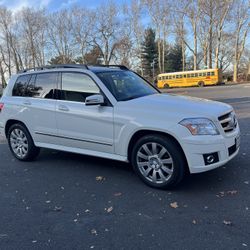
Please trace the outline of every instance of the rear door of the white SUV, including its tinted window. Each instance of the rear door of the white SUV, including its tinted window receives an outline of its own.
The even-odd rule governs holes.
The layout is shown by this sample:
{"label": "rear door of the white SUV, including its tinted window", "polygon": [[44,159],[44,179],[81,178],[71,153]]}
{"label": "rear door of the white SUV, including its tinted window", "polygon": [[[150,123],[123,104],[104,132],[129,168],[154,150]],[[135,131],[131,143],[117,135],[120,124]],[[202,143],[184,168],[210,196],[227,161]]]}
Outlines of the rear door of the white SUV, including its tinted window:
{"label": "rear door of the white SUV, including its tinted window", "polygon": [[19,107],[15,118],[28,127],[35,144],[56,144],[54,91],[57,78],[56,72],[39,73],[20,76],[15,83],[13,98]]}

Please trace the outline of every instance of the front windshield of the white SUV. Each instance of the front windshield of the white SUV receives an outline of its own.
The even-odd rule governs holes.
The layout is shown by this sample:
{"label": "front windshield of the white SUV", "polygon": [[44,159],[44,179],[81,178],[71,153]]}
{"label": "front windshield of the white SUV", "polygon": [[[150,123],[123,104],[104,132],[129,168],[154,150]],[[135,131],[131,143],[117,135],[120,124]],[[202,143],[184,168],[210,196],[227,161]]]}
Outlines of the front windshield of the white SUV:
{"label": "front windshield of the white SUV", "polygon": [[107,71],[97,76],[114,95],[117,101],[127,101],[159,92],[131,71]]}

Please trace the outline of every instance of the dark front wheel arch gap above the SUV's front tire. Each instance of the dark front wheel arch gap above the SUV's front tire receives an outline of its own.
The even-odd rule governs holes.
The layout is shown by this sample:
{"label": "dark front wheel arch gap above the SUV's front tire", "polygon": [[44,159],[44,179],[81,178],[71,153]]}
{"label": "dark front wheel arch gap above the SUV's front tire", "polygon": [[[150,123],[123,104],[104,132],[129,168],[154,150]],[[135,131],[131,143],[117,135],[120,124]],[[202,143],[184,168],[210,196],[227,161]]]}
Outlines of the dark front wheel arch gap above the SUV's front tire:
{"label": "dark front wheel arch gap above the SUV's front tire", "polygon": [[181,150],[181,153],[184,157],[186,166],[187,166],[187,170],[189,171],[189,167],[188,167],[188,161],[187,161],[187,157],[183,151],[183,148],[181,146],[181,144],[179,143],[179,141],[171,134],[167,133],[167,132],[162,132],[162,131],[155,131],[155,130],[149,130],[149,129],[143,129],[143,130],[138,130],[136,131],[132,137],[129,140],[129,144],[128,144],[128,151],[127,151],[127,155],[128,155],[128,161],[131,162],[131,155],[132,155],[132,149],[133,149],[133,145],[135,144],[135,142],[137,140],[139,140],[141,137],[146,136],[146,135],[161,135],[164,136],[166,138],[169,138],[171,141],[173,141],[176,146]]}

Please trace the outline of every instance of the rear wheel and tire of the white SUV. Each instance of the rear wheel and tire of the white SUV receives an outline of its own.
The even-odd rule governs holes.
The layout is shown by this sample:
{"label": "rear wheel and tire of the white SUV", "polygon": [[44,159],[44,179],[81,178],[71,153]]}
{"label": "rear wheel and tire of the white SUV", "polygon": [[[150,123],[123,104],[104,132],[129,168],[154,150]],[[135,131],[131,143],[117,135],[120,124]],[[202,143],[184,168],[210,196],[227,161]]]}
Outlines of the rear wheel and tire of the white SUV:
{"label": "rear wheel and tire of the white SUV", "polygon": [[29,131],[20,123],[9,128],[7,138],[10,151],[20,161],[32,161],[40,153],[40,148],[34,145]]}

